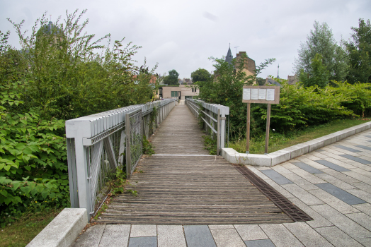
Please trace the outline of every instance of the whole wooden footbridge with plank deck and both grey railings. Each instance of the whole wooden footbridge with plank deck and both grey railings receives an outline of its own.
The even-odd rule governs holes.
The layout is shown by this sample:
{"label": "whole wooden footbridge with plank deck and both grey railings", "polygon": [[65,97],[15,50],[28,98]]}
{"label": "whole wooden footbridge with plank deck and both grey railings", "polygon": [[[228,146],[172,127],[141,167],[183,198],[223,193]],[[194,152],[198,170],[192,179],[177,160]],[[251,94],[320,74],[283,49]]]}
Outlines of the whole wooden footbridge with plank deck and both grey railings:
{"label": "whole wooden footbridge with plank deck and both grey railings", "polygon": [[[249,169],[205,150],[205,133],[193,115],[202,112],[200,119],[210,119],[205,121],[206,131],[214,131],[223,147],[222,106],[176,103],[164,100],[67,121],[72,207],[84,207],[90,216],[95,215],[109,193],[105,184],[113,177],[112,171],[125,163],[130,176],[125,190],[137,195],[115,196],[97,222],[264,224],[308,219]],[[154,112],[151,123],[149,116]],[[222,121],[224,125],[219,126]],[[142,135],[150,136],[155,155],[140,158]]]}

